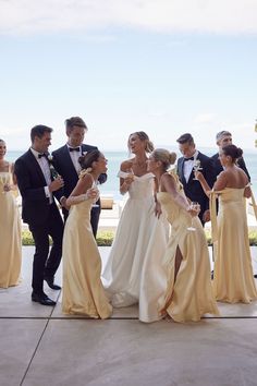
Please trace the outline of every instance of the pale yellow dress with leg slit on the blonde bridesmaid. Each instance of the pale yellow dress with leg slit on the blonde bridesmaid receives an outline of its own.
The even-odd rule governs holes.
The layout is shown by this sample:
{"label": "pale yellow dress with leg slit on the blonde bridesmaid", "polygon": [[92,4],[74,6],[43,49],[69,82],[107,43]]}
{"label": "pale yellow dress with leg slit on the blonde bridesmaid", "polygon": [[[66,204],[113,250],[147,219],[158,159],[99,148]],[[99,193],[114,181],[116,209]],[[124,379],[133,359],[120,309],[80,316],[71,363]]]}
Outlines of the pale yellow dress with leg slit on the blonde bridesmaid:
{"label": "pale yellow dress with leg slit on the blonde bridesmaid", "polygon": [[[199,218],[193,218],[196,230],[189,231],[192,217],[173,201],[171,194],[160,192],[157,197],[172,225],[164,255],[169,279],[162,313],[175,322],[197,322],[206,313],[219,315],[211,288],[208,246]],[[178,248],[183,260],[174,281]]]}

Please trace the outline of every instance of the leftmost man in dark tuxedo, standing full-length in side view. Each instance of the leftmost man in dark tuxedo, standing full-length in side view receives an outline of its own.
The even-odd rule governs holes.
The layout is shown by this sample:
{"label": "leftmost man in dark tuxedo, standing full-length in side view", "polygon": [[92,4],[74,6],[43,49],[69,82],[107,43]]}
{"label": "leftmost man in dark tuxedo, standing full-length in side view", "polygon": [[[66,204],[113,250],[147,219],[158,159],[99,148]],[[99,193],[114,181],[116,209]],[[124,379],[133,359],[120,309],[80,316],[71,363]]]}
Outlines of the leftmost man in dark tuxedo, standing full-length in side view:
{"label": "leftmost man in dark tuxedo, standing full-length in side view", "polygon": [[[32,300],[44,305],[56,304],[44,292],[44,279],[51,289],[61,289],[53,280],[62,256],[63,221],[53,194],[58,198],[63,195],[60,191],[63,180],[56,176],[48,158],[51,132],[51,128],[42,124],[34,126],[32,147],[14,165],[22,195],[22,218],[28,224],[35,241]],[[53,242],[50,253],[49,236]]]}

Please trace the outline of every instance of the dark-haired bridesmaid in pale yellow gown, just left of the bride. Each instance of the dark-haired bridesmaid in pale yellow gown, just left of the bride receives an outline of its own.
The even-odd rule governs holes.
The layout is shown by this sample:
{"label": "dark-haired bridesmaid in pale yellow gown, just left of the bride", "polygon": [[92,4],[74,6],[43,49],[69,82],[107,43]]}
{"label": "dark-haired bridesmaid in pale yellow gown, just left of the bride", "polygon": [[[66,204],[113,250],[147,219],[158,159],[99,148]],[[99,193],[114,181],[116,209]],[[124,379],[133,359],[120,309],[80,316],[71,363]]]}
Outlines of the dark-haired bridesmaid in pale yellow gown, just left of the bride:
{"label": "dark-haired bridesmaid in pale yellow gown, just left of the bride", "polygon": [[90,225],[91,205],[99,196],[96,181],[107,171],[107,159],[93,150],[78,160],[79,180],[66,200],[71,209],[63,234],[62,311],[108,318],[112,306],[101,284],[101,257]]}

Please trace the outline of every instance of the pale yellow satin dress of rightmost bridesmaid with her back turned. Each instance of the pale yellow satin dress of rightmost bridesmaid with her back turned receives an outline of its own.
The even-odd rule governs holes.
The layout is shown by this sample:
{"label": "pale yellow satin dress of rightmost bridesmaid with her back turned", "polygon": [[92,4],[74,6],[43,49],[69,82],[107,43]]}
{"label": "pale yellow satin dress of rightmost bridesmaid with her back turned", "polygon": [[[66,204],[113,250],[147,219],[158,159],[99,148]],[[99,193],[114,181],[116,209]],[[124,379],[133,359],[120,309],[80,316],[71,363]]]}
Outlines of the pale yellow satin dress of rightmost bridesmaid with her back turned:
{"label": "pale yellow satin dress of rightmost bridesmaid with her back turned", "polygon": [[229,303],[249,303],[257,299],[257,291],[249,251],[244,189],[225,188],[219,192],[218,222],[215,193],[210,208],[216,299]]}

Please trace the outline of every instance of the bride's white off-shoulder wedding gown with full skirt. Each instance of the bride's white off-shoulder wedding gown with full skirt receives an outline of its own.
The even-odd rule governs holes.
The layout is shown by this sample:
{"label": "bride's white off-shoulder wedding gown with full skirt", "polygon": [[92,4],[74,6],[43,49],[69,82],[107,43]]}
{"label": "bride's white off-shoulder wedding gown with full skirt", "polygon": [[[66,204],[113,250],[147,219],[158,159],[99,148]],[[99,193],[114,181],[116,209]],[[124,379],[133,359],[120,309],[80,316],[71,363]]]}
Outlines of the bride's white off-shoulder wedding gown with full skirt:
{"label": "bride's white off-shoulder wedding gown with full skirt", "polygon": [[102,274],[112,305],[139,302],[139,319],[160,318],[159,304],[167,290],[162,258],[168,244],[169,224],[155,216],[154,174],[134,177],[112,249]]}

